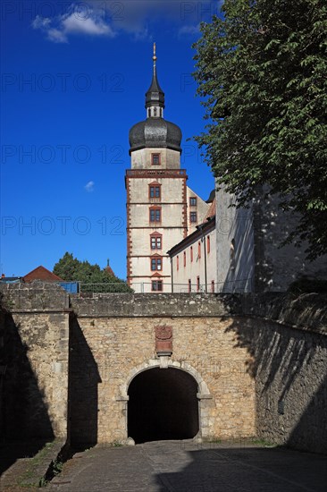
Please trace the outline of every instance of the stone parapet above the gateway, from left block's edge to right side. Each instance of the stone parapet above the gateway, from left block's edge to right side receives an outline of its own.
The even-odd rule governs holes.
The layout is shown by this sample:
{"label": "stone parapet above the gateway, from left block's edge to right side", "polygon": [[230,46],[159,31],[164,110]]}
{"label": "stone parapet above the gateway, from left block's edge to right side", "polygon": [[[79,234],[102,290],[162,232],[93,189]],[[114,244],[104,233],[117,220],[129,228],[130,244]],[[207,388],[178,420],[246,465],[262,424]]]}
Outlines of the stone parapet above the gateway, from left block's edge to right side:
{"label": "stone parapet above the gateway, from left block's edge to right side", "polygon": [[189,318],[247,316],[327,334],[327,296],[306,293],[114,293],[71,295],[79,317]]}

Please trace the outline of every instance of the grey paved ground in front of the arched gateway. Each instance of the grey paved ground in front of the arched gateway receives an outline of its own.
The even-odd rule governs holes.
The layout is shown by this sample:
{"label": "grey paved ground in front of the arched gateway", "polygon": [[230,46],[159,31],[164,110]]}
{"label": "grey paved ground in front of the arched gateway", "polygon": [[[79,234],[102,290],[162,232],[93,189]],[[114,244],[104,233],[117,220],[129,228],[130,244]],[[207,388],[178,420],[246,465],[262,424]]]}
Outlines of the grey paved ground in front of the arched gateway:
{"label": "grey paved ground in front of the arched gateway", "polygon": [[48,492],[301,492],[327,489],[327,458],[190,441],[95,447],[76,454]]}

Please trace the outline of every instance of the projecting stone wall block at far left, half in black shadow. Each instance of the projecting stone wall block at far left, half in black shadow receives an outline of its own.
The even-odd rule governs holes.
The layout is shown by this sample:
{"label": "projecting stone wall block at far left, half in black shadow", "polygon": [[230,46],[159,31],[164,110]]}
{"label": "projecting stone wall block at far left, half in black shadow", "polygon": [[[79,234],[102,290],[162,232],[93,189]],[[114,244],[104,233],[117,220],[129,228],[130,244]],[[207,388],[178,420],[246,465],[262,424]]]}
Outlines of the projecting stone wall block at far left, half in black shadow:
{"label": "projecting stone wall block at far left, half in black shadow", "polygon": [[50,284],[2,286],[2,434],[63,437],[67,428],[67,295]]}

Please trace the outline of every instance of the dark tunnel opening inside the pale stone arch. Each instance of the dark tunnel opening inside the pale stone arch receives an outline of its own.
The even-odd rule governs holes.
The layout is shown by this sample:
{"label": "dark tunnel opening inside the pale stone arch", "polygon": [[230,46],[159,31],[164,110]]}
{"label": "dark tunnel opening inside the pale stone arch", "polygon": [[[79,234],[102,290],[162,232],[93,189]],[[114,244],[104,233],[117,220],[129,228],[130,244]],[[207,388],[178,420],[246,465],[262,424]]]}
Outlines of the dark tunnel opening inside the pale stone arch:
{"label": "dark tunnel opening inside the pale stone arch", "polygon": [[136,444],[198,432],[197,381],[180,369],[147,369],[130,383],[128,436]]}

